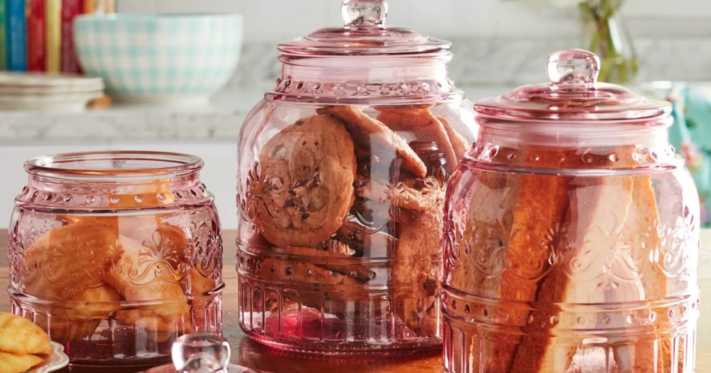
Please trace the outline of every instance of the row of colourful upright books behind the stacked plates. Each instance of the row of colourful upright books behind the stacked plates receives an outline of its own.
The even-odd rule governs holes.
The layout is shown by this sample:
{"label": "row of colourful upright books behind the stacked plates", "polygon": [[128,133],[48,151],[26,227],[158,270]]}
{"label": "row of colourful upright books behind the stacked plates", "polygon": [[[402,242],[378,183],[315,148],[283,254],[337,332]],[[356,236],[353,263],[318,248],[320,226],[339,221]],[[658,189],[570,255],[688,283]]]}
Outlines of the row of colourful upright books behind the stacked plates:
{"label": "row of colourful upright books behind the stacked plates", "polygon": [[79,73],[72,22],[115,0],[0,0],[0,70]]}

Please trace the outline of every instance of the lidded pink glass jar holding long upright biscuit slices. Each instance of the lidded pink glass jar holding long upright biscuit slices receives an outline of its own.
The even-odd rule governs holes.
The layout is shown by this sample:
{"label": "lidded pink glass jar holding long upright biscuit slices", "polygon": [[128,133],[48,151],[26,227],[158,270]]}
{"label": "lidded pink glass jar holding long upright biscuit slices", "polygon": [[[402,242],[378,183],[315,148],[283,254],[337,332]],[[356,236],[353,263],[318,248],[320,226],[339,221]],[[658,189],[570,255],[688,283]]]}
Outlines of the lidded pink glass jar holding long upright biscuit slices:
{"label": "lidded pink glass jar holding long upright biscuit slices", "polygon": [[444,207],[444,369],[693,372],[699,205],[670,105],[595,82],[584,50],[547,70],[474,105]]}

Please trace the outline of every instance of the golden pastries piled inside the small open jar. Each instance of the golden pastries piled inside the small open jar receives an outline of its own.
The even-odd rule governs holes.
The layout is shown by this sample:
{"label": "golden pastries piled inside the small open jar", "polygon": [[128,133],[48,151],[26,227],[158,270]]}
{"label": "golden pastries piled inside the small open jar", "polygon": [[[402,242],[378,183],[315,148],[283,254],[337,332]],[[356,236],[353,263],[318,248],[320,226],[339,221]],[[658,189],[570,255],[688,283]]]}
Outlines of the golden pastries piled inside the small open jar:
{"label": "golden pastries piled inside the small open jar", "polygon": [[[175,201],[168,183],[158,181],[142,190],[141,204]],[[111,200],[115,208],[139,205],[134,195]],[[55,342],[92,337],[109,319],[141,328],[156,342],[203,330],[207,315],[196,310],[193,316],[191,299],[220,281],[192,265],[193,242],[176,219],[171,213],[60,216],[62,225],[22,253],[24,293],[48,300],[35,307],[35,322]]]}

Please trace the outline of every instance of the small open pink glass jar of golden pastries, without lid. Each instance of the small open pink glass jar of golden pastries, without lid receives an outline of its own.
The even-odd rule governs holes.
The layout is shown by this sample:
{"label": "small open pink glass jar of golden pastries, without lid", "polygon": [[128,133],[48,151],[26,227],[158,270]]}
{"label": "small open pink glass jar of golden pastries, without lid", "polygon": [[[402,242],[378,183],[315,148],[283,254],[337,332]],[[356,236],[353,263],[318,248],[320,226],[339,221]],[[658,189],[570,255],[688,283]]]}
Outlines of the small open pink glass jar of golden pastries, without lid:
{"label": "small open pink glass jar of golden pastries, without lid", "polygon": [[203,161],[65,153],[25,163],[10,222],[12,311],[73,367],[143,370],[180,335],[222,331],[222,239]]}

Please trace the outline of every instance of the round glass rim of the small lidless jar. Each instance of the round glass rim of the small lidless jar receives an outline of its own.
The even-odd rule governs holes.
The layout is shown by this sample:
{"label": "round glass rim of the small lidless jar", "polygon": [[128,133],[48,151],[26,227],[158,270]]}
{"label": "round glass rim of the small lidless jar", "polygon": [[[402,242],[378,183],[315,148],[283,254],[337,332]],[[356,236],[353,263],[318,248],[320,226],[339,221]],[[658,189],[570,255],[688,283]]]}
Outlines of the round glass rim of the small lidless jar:
{"label": "round glass rim of the small lidless jar", "polygon": [[37,156],[25,162],[31,175],[50,178],[154,179],[203,168],[198,156],[162,151],[84,151]]}

